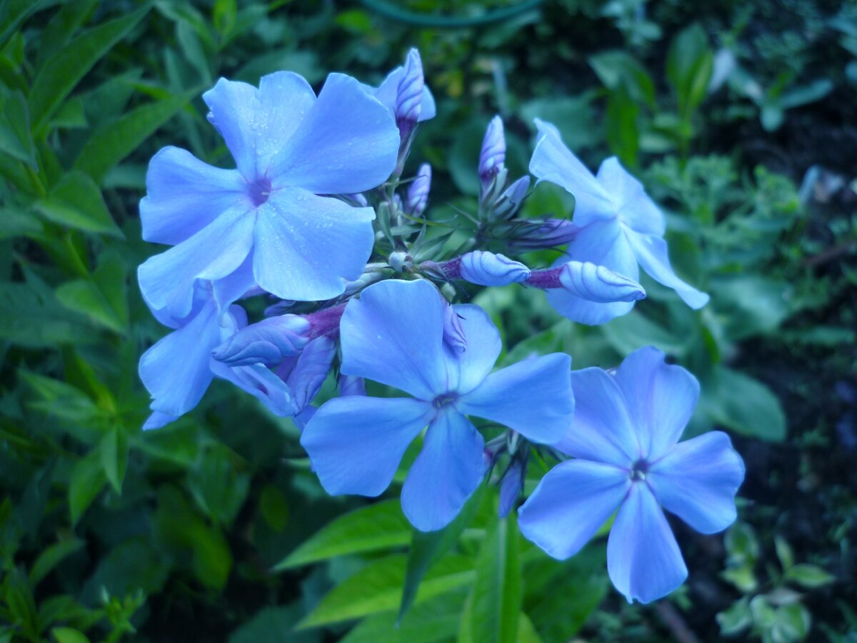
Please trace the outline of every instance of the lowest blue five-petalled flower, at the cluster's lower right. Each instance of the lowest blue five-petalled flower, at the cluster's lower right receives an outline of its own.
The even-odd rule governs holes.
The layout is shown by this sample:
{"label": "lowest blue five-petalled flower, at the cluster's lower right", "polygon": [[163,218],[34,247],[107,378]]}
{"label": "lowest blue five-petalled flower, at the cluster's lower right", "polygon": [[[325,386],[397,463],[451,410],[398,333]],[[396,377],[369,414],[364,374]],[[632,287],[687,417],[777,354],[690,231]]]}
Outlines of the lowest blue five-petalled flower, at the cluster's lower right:
{"label": "lowest blue five-petalled flower, at the cluster's lower right", "polygon": [[574,426],[554,448],[575,460],[542,478],[519,509],[521,532],[565,559],[619,508],[607,544],[610,580],[628,601],[649,603],[687,575],[661,507],[698,532],[726,529],[744,463],[721,431],[678,442],[699,384],[651,346],[632,352],[615,376],[572,371],[572,388]]}

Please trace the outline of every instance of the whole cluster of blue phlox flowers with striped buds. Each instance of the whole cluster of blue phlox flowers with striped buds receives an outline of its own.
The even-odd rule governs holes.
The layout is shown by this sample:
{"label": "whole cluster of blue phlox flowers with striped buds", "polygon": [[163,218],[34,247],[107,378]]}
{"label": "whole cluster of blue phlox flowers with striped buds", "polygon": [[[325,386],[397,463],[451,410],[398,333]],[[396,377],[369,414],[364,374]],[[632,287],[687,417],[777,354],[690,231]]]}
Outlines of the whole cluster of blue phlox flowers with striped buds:
{"label": "whole cluster of blue phlox flowers with striped buds", "polygon": [[[576,206],[573,221],[526,217],[530,177],[508,177],[494,117],[474,167],[476,211],[455,224],[472,225],[470,242],[450,255],[450,235],[428,231],[431,167],[404,177],[418,125],[435,114],[416,50],[379,87],[332,74],[316,95],[281,72],[259,87],[221,79],[203,99],[235,169],[177,147],[149,165],[143,237],[171,248],[141,265],[139,281],[172,331],[141,358],[153,397],[144,428],[189,412],[216,376],[294,418],[331,494],[380,495],[414,444],[401,502],[421,531],[448,525],[499,462],[505,515],[536,449],[560,464],[519,509],[526,538],[566,558],[618,509],[608,539],[617,589],[648,602],[679,586],[686,568],[662,508],[721,531],[744,474],[722,433],[678,442],[698,397],[693,376],[652,347],[615,373],[572,371],[564,353],[494,370],[500,332],[450,296],[518,284],[575,322],[601,324],[645,297],[643,267],[704,306],[708,296],[670,267],[662,213],[619,161],[593,176],[536,121],[530,172]],[[564,246],[552,266],[521,261]],[[268,305],[249,322],[252,297]],[[316,407],[331,373],[339,394]]]}

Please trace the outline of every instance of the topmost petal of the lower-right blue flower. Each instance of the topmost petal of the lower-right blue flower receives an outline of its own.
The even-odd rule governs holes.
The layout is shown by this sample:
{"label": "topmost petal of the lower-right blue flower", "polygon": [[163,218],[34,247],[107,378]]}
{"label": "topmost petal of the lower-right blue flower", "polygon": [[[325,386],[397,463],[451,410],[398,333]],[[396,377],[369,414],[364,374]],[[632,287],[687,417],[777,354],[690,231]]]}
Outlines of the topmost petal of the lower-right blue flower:
{"label": "topmost petal of the lower-right blue flower", "polygon": [[616,370],[642,455],[650,462],[666,454],[693,414],[699,382],[680,366],[666,364],[664,354],[644,346],[628,355]]}

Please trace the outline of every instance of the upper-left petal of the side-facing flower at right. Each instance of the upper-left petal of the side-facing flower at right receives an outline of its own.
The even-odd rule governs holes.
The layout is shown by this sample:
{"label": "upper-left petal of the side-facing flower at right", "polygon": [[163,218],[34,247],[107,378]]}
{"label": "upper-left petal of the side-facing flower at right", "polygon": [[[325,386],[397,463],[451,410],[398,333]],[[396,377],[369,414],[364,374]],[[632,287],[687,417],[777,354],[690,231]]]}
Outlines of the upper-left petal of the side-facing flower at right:
{"label": "upper-left petal of the side-facing flower at right", "polygon": [[600,219],[614,218],[616,208],[610,195],[563,144],[560,132],[538,118],[536,128],[539,139],[530,159],[530,172],[540,181],[556,183],[574,195],[574,225],[582,227]]}

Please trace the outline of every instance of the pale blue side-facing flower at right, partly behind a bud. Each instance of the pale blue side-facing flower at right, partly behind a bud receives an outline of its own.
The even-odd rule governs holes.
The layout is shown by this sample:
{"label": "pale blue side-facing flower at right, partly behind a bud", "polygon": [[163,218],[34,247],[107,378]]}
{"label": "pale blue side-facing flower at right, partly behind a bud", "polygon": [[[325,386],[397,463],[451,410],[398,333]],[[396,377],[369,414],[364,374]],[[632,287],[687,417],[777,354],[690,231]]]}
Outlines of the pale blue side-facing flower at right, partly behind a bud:
{"label": "pale blue side-facing flower at right, partly behind a bud", "polygon": [[[643,186],[611,157],[592,176],[562,143],[550,123],[536,119],[540,138],[530,159],[530,172],[574,195],[578,231],[565,261],[589,261],[638,281],[639,267],[652,279],[672,288],[691,308],[702,308],[708,295],[675,276],[669,265],[663,214]],[[551,291],[548,301],[575,322],[602,324],[625,315],[633,302],[592,303],[567,291]]]}

